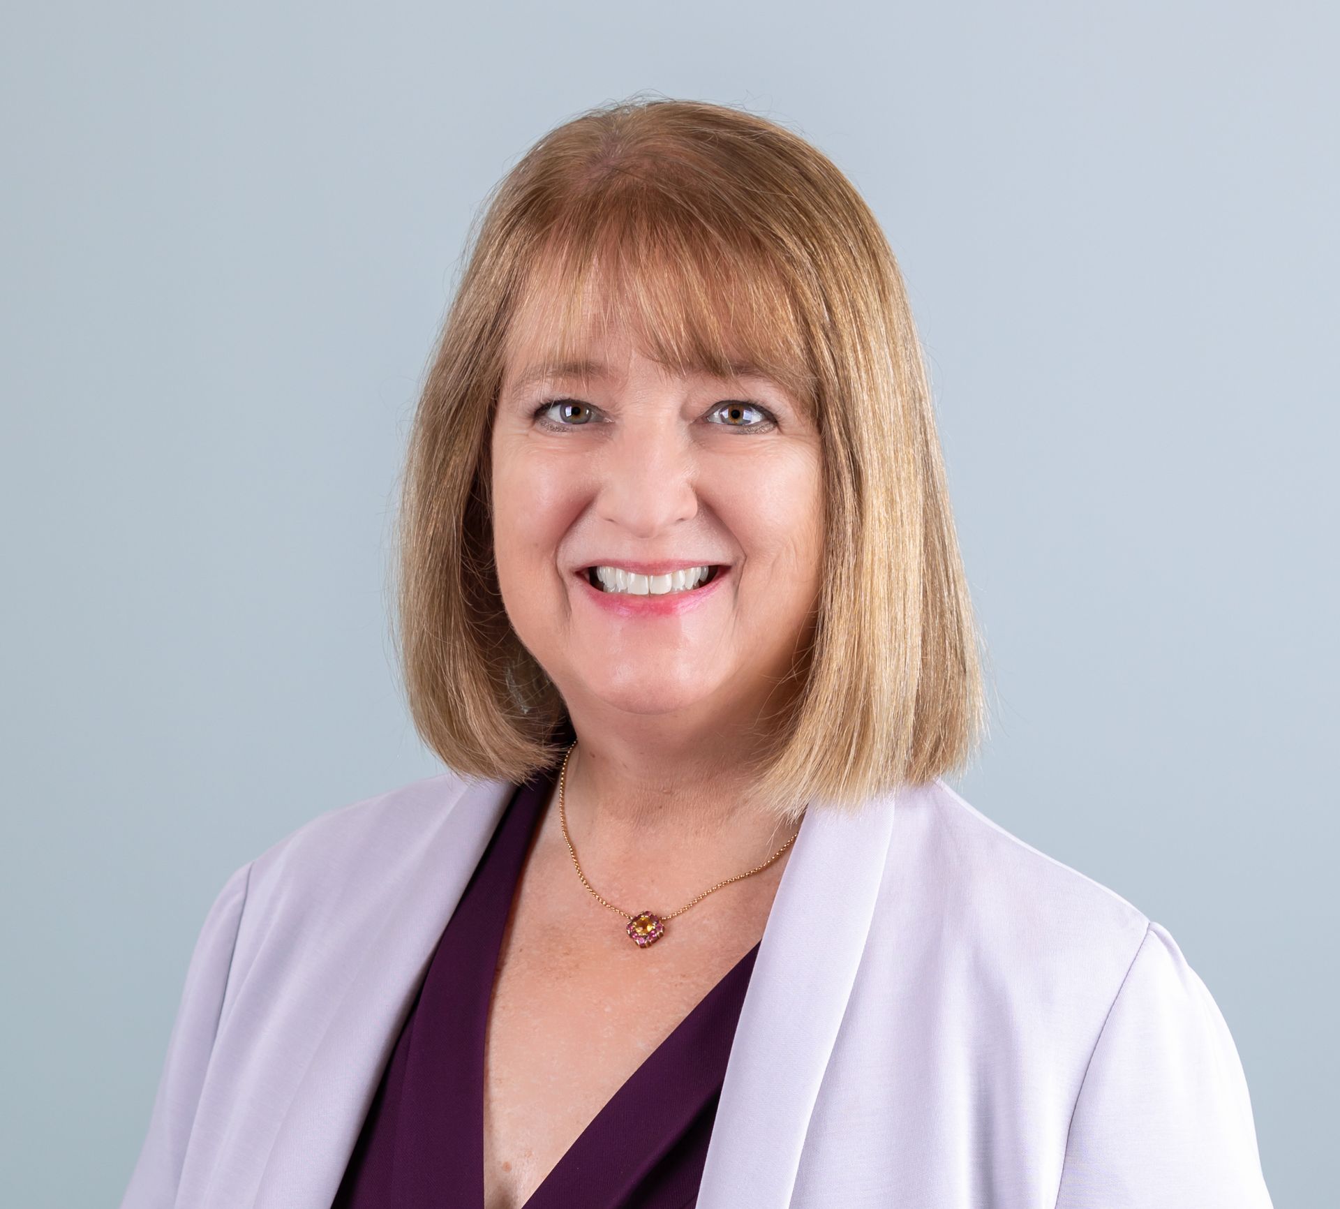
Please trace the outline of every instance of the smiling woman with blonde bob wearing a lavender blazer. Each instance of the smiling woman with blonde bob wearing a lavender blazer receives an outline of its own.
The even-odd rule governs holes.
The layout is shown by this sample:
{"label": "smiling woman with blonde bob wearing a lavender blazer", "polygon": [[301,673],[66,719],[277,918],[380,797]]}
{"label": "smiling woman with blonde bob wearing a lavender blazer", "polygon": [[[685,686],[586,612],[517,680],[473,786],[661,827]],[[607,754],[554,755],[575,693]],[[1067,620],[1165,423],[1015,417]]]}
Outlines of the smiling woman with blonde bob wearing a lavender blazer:
{"label": "smiling woman with blonde bob wearing a lavender blazer", "polygon": [[942,780],[982,690],[930,390],[812,146],[541,139],[402,524],[450,771],[225,885],[127,1209],[1270,1204],[1172,937]]}

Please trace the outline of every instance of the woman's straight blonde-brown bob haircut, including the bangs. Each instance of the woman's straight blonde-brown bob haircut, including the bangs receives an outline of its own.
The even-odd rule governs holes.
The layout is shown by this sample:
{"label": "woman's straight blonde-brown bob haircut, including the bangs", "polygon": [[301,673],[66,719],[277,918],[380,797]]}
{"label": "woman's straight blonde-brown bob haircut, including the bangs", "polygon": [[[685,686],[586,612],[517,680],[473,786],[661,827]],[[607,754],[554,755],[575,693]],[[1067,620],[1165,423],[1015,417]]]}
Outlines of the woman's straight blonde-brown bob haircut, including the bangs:
{"label": "woman's straight blonde-brown bob haircut, including the bangs", "polygon": [[398,650],[429,748],[513,781],[563,755],[567,708],[498,591],[489,450],[513,316],[541,298],[549,361],[580,359],[598,292],[645,355],[722,377],[742,358],[820,434],[823,586],[784,708],[748,744],[756,804],[783,822],[811,802],[855,811],[963,767],[982,677],[929,377],[852,184],[770,121],[658,97],[557,126],[486,202],[402,480]]}

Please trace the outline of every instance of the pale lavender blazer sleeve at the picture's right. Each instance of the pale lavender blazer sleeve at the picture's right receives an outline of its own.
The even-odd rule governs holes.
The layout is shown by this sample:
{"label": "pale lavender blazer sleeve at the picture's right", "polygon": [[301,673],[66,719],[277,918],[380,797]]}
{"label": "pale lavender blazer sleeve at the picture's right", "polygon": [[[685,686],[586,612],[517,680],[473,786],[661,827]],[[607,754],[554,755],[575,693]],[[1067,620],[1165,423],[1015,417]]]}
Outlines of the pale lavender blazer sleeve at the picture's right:
{"label": "pale lavender blazer sleeve at the picture's right", "polygon": [[1056,1209],[1272,1209],[1237,1047],[1158,924],[1089,1059]]}

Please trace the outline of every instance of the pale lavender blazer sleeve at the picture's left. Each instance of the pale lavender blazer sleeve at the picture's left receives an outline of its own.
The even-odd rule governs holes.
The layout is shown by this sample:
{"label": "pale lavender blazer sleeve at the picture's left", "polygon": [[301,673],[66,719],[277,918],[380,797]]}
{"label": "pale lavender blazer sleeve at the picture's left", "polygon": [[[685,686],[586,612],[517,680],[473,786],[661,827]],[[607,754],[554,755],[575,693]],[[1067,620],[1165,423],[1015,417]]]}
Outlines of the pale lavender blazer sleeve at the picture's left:
{"label": "pale lavender blazer sleeve at the picture's left", "polygon": [[122,1209],[170,1209],[177,1201],[186,1142],[218,1032],[249,878],[251,865],[244,865],[224,883],[196,941],[149,1133]]}

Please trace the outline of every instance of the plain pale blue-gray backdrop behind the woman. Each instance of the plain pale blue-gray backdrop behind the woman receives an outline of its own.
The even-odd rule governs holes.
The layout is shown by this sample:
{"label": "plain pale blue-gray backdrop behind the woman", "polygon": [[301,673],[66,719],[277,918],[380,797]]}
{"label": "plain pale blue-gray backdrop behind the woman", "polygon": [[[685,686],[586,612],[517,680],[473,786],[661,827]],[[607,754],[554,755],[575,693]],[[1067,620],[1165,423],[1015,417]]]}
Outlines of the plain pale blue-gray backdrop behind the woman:
{"label": "plain pale blue-gray backdrop behind the woman", "polygon": [[438,765],[394,487],[466,224],[650,90],[828,151],[899,255],[985,814],[1168,928],[1278,1206],[1333,1190],[1333,5],[47,3],[0,39],[0,1188],[114,1205],[224,878]]}

